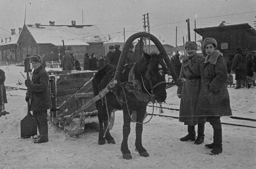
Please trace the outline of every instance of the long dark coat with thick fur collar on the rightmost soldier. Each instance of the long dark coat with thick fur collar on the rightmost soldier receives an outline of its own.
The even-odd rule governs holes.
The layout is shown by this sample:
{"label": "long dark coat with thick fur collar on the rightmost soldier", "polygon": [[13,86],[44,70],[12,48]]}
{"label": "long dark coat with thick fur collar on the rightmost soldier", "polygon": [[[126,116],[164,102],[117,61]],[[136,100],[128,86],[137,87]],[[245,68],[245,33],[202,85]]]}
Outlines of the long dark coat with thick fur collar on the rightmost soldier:
{"label": "long dark coat with thick fur collar on the rightmost soldier", "polygon": [[206,56],[201,66],[201,78],[202,85],[196,111],[198,116],[232,115],[226,85],[226,62],[219,50]]}

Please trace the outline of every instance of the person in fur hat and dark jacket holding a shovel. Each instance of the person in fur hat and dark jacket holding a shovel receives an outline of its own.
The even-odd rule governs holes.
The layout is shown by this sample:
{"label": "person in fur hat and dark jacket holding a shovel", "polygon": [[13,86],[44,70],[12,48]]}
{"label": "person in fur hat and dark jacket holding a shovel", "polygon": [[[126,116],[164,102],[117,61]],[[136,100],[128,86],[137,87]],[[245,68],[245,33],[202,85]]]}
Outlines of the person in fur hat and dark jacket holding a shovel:
{"label": "person in fur hat and dark jacket holding a shovel", "polygon": [[30,57],[34,71],[32,79],[25,81],[28,92],[26,101],[30,99],[30,111],[33,111],[33,119],[37,124],[39,135],[34,137],[34,143],[48,142],[47,109],[50,109],[50,93],[48,90],[49,76],[42,66],[43,58],[39,55]]}

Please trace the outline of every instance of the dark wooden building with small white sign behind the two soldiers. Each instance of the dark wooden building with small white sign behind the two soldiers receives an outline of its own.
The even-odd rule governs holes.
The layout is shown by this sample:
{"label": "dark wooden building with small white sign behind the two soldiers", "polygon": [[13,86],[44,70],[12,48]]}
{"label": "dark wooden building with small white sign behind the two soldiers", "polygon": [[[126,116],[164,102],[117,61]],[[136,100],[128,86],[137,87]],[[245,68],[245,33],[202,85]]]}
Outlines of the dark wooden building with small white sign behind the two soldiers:
{"label": "dark wooden building with small white sign behind the two soldiers", "polygon": [[247,24],[225,25],[223,21],[219,26],[197,28],[196,33],[205,38],[214,38],[217,49],[223,53],[225,59],[235,54],[235,48],[240,46],[244,53],[256,52],[256,31]]}

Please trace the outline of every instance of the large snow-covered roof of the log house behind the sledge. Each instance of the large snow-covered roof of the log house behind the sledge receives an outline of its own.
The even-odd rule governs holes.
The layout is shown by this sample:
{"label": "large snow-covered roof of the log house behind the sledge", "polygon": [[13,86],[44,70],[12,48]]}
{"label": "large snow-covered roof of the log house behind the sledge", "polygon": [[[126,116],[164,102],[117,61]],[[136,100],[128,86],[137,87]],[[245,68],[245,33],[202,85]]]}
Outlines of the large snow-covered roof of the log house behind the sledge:
{"label": "large snow-covered roof of the log house behind the sledge", "polygon": [[52,43],[55,46],[89,45],[88,43],[107,41],[96,25],[90,26],[46,26],[27,25],[37,43]]}

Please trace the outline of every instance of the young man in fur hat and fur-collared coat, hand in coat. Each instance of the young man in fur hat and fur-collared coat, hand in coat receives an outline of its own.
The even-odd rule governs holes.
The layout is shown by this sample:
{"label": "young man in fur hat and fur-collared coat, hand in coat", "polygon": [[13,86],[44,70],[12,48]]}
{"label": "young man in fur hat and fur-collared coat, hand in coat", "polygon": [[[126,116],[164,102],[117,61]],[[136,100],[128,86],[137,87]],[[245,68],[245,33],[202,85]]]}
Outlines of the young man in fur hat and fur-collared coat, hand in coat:
{"label": "young man in fur hat and fur-collared coat, hand in coat", "polygon": [[203,48],[207,54],[205,61],[200,65],[202,85],[199,94],[197,113],[205,116],[213,128],[213,143],[205,144],[212,149],[212,155],[222,152],[222,128],[220,117],[230,116],[231,108],[227,91],[227,68],[223,54],[216,50],[217,41],[205,38]]}

